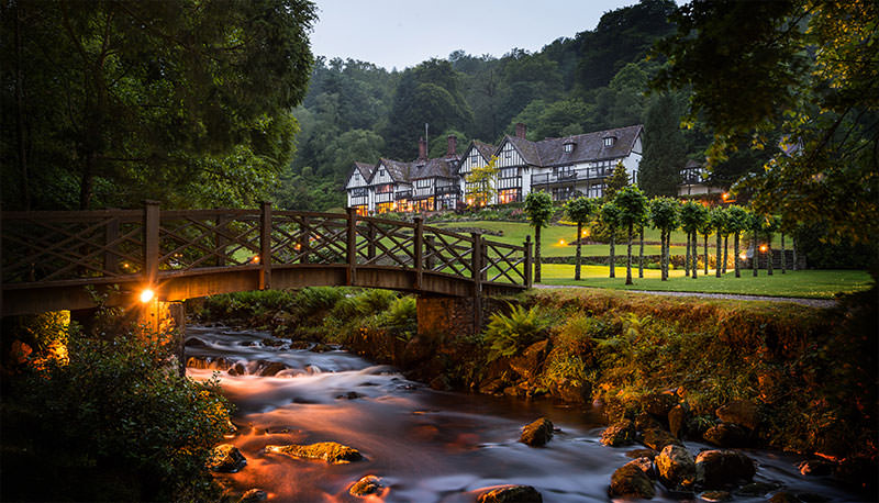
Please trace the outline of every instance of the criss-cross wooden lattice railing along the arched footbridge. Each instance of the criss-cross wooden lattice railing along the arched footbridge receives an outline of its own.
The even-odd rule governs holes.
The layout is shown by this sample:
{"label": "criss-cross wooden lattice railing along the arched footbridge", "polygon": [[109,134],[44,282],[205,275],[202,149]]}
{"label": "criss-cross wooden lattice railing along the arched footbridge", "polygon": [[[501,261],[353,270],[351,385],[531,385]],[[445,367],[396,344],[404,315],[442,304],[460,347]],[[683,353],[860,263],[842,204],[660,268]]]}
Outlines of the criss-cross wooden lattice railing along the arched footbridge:
{"label": "criss-cross wooden lattice railing along the arched footbridge", "polygon": [[112,283],[223,269],[347,266],[446,275],[476,283],[531,286],[531,244],[486,241],[424,225],[347,214],[272,210],[141,210],[2,213],[7,287]]}

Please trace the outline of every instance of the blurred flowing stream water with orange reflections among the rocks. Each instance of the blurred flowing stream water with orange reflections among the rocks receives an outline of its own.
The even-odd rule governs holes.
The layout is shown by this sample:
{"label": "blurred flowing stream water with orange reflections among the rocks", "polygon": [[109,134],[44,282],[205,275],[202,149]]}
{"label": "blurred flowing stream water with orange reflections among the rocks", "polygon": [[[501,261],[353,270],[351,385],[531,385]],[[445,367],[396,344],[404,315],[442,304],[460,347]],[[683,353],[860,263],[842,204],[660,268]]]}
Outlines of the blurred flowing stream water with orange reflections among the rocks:
{"label": "blurred flowing stream water with orange reflections among the rocks", "polygon": [[[189,326],[187,336],[187,375],[208,379],[219,370],[223,392],[237,407],[238,432],[229,443],[241,449],[247,466],[219,477],[241,491],[263,489],[269,501],[364,501],[348,488],[375,474],[387,489],[369,501],[474,502],[485,488],[527,484],[545,502],[607,502],[611,473],[631,460],[626,451],[639,447],[602,446],[597,410],[438,392],[391,367],[341,350],[290,349],[262,332]],[[236,375],[226,371],[230,367]],[[520,444],[522,426],[541,416],[560,431],[544,448]],[[266,445],[330,440],[358,449],[366,459],[327,465],[264,452]],[[693,454],[709,448],[687,446]],[[824,501],[856,500],[827,481],[801,476],[799,458],[747,454],[759,465],[755,481]],[[678,499],[660,490],[654,501]]]}

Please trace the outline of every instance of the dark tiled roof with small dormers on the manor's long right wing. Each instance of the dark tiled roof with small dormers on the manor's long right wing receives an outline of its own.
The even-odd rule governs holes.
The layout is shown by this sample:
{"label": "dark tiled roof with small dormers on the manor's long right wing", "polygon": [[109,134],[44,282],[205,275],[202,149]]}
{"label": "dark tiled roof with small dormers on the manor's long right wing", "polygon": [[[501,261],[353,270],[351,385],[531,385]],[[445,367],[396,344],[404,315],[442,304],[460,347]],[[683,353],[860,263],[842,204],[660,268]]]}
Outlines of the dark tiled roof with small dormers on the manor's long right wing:
{"label": "dark tiled roof with small dormers on the manor's long right wing", "polygon": [[[644,131],[644,126],[633,125],[615,130],[597,131],[594,133],[565,136],[564,138],[546,138],[541,142],[530,142],[516,136],[507,136],[508,139],[525,163],[533,166],[558,166],[578,164],[590,160],[614,159],[625,157],[635,147],[635,141]],[[604,138],[613,136],[616,139],[612,146],[604,146]],[[574,150],[565,152],[565,144],[574,144]]]}

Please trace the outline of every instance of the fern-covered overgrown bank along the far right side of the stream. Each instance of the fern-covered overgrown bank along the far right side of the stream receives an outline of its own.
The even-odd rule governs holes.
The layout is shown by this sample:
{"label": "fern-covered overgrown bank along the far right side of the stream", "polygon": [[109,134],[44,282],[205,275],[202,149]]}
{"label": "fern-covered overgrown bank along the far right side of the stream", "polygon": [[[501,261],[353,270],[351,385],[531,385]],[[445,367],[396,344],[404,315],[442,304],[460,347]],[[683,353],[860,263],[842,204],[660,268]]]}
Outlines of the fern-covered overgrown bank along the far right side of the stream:
{"label": "fern-covered overgrown bank along the far right side of the stream", "polygon": [[437,389],[594,403],[657,451],[659,436],[814,455],[804,473],[875,495],[876,305],[875,290],[835,310],[532,291],[493,300],[477,336],[425,338],[413,299],[327,288],[222,295],[202,316],[340,344]]}

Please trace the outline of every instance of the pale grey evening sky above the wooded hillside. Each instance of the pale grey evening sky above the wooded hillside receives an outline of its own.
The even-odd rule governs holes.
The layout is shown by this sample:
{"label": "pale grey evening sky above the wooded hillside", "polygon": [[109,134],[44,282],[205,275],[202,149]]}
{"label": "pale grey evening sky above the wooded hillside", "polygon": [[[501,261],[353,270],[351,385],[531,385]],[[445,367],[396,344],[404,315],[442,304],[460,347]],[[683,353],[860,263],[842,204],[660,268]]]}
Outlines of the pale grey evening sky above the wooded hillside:
{"label": "pale grey evening sky above the wooded hillside", "polygon": [[592,30],[637,0],[316,0],[315,56],[412,67],[457,49],[503,56]]}

